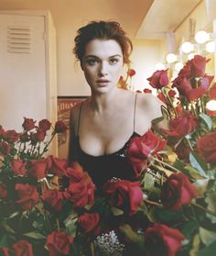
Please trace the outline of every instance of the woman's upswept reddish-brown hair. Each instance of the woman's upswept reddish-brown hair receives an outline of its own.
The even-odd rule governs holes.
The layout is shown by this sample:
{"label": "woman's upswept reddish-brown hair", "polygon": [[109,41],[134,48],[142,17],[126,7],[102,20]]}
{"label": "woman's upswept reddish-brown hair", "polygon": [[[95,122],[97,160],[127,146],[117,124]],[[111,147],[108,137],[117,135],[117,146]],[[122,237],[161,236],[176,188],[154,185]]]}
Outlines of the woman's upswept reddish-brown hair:
{"label": "woman's upswept reddish-brown hair", "polygon": [[123,51],[124,63],[130,63],[129,57],[133,50],[131,39],[126,36],[123,28],[115,21],[92,21],[77,31],[74,39],[73,53],[78,60],[82,60],[85,47],[92,39],[113,39],[119,43]]}

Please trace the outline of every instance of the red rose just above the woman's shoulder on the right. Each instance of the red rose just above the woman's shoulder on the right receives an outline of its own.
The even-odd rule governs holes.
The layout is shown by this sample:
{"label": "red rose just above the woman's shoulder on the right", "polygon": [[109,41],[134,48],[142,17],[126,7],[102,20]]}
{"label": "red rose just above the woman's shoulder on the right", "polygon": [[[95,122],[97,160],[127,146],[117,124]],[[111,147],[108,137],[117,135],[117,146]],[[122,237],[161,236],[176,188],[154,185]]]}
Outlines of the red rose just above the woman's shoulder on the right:
{"label": "red rose just above the woman's shoulder on the right", "polygon": [[147,81],[149,81],[153,88],[163,88],[168,84],[167,70],[154,72],[151,77],[147,78]]}

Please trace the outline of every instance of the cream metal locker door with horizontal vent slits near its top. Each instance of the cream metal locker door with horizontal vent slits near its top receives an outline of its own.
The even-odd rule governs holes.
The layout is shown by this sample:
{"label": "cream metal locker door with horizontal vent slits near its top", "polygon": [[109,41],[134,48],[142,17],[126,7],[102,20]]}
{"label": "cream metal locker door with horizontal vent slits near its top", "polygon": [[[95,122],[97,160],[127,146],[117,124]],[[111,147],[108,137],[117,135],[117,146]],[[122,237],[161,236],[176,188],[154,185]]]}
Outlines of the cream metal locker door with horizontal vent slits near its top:
{"label": "cream metal locker door with horizontal vent slits near its top", "polygon": [[47,117],[45,18],[0,15],[0,125]]}

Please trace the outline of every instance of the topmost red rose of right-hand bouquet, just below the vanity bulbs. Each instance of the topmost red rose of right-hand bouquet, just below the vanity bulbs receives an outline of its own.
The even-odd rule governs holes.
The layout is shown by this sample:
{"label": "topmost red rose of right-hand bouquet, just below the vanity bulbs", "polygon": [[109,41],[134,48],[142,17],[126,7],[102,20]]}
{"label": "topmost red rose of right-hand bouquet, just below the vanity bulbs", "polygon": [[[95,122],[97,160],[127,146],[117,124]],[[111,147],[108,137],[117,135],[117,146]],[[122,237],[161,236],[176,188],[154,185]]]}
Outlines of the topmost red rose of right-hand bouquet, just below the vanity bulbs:
{"label": "topmost red rose of right-hand bouquet, just below the vanity bulbs", "polygon": [[206,63],[210,60],[207,60],[206,58],[195,55],[192,60],[190,60],[191,64],[191,74],[195,77],[202,77],[205,74],[206,69]]}

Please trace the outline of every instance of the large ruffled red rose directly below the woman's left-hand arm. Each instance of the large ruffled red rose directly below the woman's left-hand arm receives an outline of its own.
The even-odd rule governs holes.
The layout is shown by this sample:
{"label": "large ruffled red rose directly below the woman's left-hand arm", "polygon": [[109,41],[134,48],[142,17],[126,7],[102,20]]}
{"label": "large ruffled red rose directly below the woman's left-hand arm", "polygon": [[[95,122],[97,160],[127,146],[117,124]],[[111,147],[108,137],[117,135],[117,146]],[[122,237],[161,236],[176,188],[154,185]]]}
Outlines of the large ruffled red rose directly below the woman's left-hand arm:
{"label": "large ruffled red rose directly below the woman's left-hand arm", "polygon": [[74,206],[79,208],[92,205],[94,201],[95,185],[89,174],[83,172],[79,163],[74,162],[74,169],[68,168],[68,176],[70,177],[70,185],[65,192],[65,197],[68,198]]}

